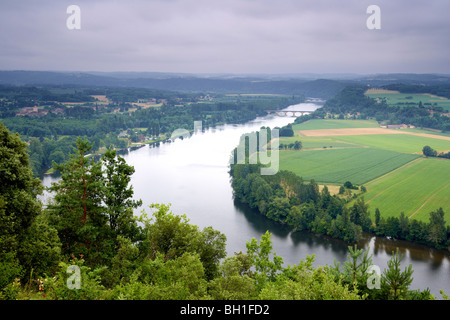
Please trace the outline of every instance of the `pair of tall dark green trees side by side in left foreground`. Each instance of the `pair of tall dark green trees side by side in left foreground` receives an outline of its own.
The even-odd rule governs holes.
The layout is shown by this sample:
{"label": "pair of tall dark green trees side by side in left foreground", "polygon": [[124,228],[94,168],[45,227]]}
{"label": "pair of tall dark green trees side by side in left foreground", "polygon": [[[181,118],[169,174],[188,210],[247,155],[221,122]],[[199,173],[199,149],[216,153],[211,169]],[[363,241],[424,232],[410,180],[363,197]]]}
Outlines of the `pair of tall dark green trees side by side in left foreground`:
{"label": "pair of tall dark green trees side by side in left foreground", "polygon": [[61,179],[49,188],[54,202],[48,212],[64,255],[82,254],[90,264],[108,264],[117,252],[119,236],[142,239],[133,216],[142,202],[131,200],[134,168],[112,150],[96,162],[87,157],[91,149],[87,139],[79,138],[70,160],[54,164]]}

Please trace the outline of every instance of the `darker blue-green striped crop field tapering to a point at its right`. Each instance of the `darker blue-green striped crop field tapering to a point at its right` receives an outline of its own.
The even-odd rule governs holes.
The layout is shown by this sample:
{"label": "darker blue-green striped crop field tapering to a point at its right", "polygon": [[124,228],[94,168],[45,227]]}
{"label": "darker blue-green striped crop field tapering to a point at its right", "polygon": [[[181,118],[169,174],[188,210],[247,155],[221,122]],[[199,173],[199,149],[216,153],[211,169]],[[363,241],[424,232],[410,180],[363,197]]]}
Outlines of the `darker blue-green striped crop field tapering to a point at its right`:
{"label": "darker blue-green striped crop field tapering to a point at its right", "polygon": [[304,180],[361,185],[418,158],[419,155],[374,148],[280,151],[280,169]]}

